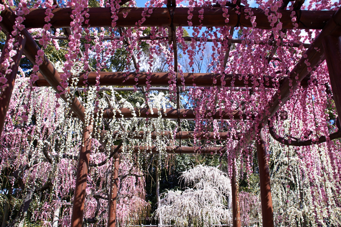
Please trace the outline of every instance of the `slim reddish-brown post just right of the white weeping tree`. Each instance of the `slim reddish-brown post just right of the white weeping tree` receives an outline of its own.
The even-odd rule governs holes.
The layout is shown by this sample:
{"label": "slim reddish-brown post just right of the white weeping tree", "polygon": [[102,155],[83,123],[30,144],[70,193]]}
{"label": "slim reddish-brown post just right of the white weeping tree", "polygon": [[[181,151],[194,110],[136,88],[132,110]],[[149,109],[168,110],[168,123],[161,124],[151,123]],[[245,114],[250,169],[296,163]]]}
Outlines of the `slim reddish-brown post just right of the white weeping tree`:
{"label": "slim reddish-brown post just right of the white weeping tree", "polygon": [[238,198],[238,183],[237,183],[237,173],[236,173],[236,159],[233,160],[232,165],[232,179],[231,179],[231,189],[232,189],[232,223],[233,227],[240,227],[240,209],[239,209],[239,198]]}

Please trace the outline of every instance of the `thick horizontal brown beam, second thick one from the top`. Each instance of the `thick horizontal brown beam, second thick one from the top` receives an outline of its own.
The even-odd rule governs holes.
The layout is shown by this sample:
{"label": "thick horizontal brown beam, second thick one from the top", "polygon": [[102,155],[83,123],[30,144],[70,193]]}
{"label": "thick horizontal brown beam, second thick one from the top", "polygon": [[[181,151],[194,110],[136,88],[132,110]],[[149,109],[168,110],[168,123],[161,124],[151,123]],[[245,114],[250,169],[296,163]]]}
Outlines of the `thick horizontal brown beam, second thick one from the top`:
{"label": "thick horizontal brown beam, second thick one from the top", "polygon": [[[61,73],[60,73],[61,74]],[[95,86],[96,84],[96,76],[97,74],[95,72],[87,72],[87,73],[80,73],[79,74],[79,80],[77,82],[78,87],[83,87],[85,84],[83,83],[85,81],[84,76],[88,76],[88,79],[86,83],[91,86]],[[100,72],[100,86],[134,86],[136,85],[135,73],[122,73],[122,72]],[[147,86],[148,82],[148,76],[150,76],[150,85],[151,86],[169,86],[169,75],[168,73],[140,73],[138,76],[138,85],[139,86]],[[36,81],[35,86],[38,87],[47,87],[50,86],[48,81],[39,74],[39,79]],[[178,86],[182,86],[182,82],[185,86],[193,86],[195,84],[198,87],[210,87],[210,86],[221,86],[222,75],[220,74],[211,74],[211,73],[184,73],[183,79],[181,80],[180,74],[178,74]],[[241,80],[240,80],[241,78]],[[261,81],[260,78],[253,80],[253,75],[242,76],[240,74],[228,74],[225,75],[225,87],[252,87],[253,84],[256,83],[257,87],[259,87],[259,84],[263,84],[265,88],[274,88],[276,84],[272,81],[271,76],[265,76],[264,80]],[[285,77],[282,78],[284,80]],[[216,83],[213,83],[213,80],[216,80]],[[307,85],[309,80],[309,77],[306,77],[302,81],[302,85]],[[71,82],[71,79],[70,79]]]}

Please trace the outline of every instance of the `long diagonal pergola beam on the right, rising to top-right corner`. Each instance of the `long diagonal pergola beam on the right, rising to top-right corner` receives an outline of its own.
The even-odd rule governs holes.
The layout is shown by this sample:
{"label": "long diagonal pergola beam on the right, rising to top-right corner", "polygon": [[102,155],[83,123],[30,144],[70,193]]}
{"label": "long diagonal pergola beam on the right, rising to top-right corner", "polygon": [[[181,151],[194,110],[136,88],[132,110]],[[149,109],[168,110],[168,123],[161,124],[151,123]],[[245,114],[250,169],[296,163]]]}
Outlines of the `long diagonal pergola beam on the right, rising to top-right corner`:
{"label": "long diagonal pergola beam on the right, rising to top-right corner", "polygon": [[[285,78],[278,92],[272,97],[265,111],[261,114],[260,120],[252,124],[248,132],[235,147],[237,150],[243,149],[243,145],[250,144],[260,128],[263,128],[268,118],[276,114],[276,112],[290,98],[290,94],[297,89],[297,85],[305,78],[314,67],[318,67],[324,60],[324,50],[322,41],[327,36],[341,36],[341,9],[339,9],[323,28],[322,32],[315,38],[308,50],[304,53],[307,57],[302,57],[290,73],[290,79]],[[303,55],[303,56],[304,56]],[[309,66],[306,65],[307,62]],[[297,76],[297,77],[296,77]],[[297,79],[296,79],[297,78]],[[291,81],[290,81],[291,80]]]}

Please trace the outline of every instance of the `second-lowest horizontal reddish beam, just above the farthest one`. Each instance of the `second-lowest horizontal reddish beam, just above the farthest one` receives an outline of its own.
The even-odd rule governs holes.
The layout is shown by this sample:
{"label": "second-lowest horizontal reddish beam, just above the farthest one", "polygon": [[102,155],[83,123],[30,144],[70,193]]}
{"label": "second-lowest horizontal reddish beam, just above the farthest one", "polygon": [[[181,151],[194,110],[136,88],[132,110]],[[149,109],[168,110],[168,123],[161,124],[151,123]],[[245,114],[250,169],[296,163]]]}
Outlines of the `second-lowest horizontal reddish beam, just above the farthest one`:
{"label": "second-lowest horizontal reddish beam, just above the farthest one", "polygon": [[[101,137],[106,134],[106,133],[111,133],[109,131],[102,131],[101,132]],[[111,137],[113,138],[122,138],[122,132],[118,132],[118,131],[114,131],[111,133]],[[129,138],[131,139],[143,139],[143,137],[145,136],[149,136],[148,132],[133,132],[133,133],[129,133]],[[218,132],[216,135],[214,134],[214,132],[196,132],[196,139],[200,139],[200,140],[218,140],[218,136],[219,136],[219,140],[227,140],[232,136],[233,140],[238,140],[239,139],[239,135],[241,133],[237,132],[236,134],[231,134],[230,132]],[[95,133],[94,133],[95,136]],[[194,139],[194,132],[186,132],[186,131],[182,131],[182,132],[170,132],[170,131],[161,131],[161,132],[151,132],[150,136],[152,137],[152,139],[156,139],[157,136],[162,136],[162,137],[170,137],[170,138],[174,138],[175,139]]]}

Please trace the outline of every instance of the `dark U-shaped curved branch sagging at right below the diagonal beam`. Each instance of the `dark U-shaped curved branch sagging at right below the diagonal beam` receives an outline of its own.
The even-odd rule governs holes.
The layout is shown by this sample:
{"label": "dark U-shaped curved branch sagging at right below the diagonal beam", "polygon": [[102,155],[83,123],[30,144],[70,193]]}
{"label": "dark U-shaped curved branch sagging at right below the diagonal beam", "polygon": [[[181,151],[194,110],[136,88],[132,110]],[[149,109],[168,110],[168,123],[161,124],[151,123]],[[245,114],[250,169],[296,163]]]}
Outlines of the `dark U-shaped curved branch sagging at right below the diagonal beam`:
{"label": "dark U-shaped curved branch sagging at right below the diagonal beam", "polygon": [[287,145],[287,146],[297,146],[297,147],[310,146],[310,145],[314,145],[314,144],[324,143],[327,141],[327,138],[329,138],[328,140],[341,138],[341,127],[340,127],[339,119],[337,119],[336,125],[338,127],[338,131],[334,132],[332,134],[329,134],[328,136],[322,135],[317,139],[299,140],[299,139],[295,138],[296,140],[291,140],[291,139],[285,139],[284,137],[276,134],[275,129],[274,129],[274,125],[271,124],[270,121],[268,121],[269,133],[276,141],[280,142],[281,144]]}

